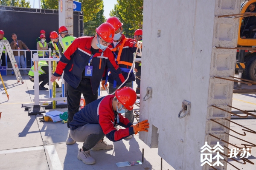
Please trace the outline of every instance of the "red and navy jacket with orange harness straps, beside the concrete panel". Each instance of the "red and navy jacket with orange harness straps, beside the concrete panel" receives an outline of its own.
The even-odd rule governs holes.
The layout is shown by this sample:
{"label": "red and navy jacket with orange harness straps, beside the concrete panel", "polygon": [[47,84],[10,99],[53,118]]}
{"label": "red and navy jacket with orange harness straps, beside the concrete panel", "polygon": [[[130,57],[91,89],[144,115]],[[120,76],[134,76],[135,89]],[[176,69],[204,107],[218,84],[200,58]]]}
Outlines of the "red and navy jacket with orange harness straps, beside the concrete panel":
{"label": "red and navy jacket with orange harness straps, beside the concrete panel", "polygon": [[[125,41],[125,42],[124,42]],[[124,42],[122,44],[122,42]],[[137,42],[134,41],[131,38],[126,38],[124,35],[122,35],[122,40],[116,45],[115,48],[113,43],[109,45],[108,47],[113,52],[113,55],[115,57],[116,63],[119,65],[119,67],[122,70],[122,75],[127,79],[128,73],[131,69],[133,60],[134,60],[134,53],[137,50]],[[121,54],[119,54],[120,49],[122,48]],[[110,70],[111,71],[111,70]],[[119,82],[115,82],[114,75],[111,74],[107,78],[108,71],[105,72],[105,76],[102,78],[102,80],[108,80],[108,82],[112,83],[114,85],[114,88],[116,87],[115,84],[121,85]],[[126,82],[132,82],[135,81],[135,76],[133,71],[131,71],[129,78]]]}

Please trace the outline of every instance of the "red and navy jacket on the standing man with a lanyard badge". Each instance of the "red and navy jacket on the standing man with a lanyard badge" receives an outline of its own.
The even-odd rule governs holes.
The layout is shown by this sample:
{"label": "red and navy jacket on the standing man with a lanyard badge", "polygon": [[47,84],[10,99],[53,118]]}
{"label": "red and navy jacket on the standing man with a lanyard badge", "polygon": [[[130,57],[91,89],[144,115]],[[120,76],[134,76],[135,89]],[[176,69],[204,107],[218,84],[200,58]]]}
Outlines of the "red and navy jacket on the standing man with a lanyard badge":
{"label": "red and navy jacket on the standing man with a lanyard badge", "polygon": [[[88,64],[91,53],[91,42],[94,37],[79,37],[67,48],[58,62],[54,76],[60,77],[64,71],[64,80],[73,88],[77,88],[82,80],[82,74],[85,66]],[[115,62],[115,58],[107,48],[102,55],[99,49],[93,55],[91,65],[93,66],[93,75],[90,77],[93,94],[97,94],[102,75],[105,68],[108,68],[119,84],[125,81],[122,71]]]}

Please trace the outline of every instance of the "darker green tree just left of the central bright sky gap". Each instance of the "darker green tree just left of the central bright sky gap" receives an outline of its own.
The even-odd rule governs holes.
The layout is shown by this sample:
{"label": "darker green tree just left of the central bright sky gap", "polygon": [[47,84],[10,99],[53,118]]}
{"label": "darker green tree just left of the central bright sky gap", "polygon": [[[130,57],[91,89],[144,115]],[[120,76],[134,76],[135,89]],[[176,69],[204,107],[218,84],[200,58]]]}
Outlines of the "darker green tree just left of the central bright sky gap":
{"label": "darker green tree just left of the central bright sky gap", "polygon": [[94,16],[92,20],[84,23],[84,35],[94,36],[95,29],[102,23],[105,23],[106,18],[103,15],[104,14],[103,1],[101,3],[102,4],[100,4],[100,6],[102,6],[102,9]]}

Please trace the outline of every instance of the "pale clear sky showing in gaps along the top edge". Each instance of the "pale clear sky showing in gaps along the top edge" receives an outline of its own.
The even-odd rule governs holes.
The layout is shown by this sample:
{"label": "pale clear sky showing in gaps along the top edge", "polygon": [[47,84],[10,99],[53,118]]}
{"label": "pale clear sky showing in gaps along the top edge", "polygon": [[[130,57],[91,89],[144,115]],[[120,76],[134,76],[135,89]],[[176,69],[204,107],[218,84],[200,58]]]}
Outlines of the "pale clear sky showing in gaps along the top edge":
{"label": "pale clear sky showing in gaps along the top edge", "polygon": [[[38,2],[39,0],[26,0],[26,2],[29,1],[31,8],[38,8]],[[34,6],[35,1],[35,6]],[[110,11],[114,8],[114,5],[117,3],[116,0],[103,0],[104,3],[104,15],[106,18],[109,17]]]}

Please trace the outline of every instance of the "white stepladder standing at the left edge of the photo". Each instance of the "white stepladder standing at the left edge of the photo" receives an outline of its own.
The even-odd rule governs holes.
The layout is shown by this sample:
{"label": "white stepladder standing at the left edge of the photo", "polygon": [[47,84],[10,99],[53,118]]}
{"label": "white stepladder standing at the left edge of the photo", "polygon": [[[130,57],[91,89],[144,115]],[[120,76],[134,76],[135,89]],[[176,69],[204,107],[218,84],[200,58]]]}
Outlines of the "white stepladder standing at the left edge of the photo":
{"label": "white stepladder standing at the left edge of the photo", "polygon": [[12,52],[12,48],[11,48],[10,43],[9,43],[8,40],[1,40],[0,41],[0,58],[1,58],[1,55],[3,53],[4,46],[6,47],[7,54],[9,56],[9,58],[10,58],[11,63],[12,63],[12,68],[13,68],[13,70],[15,72],[17,81],[21,82],[21,84],[23,84],[24,82],[23,82],[23,79],[22,79],[22,77],[20,75],[19,67],[17,65],[17,62],[16,62],[15,57],[14,57],[13,52]]}

